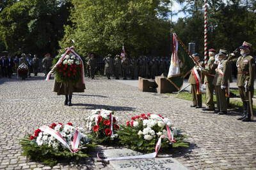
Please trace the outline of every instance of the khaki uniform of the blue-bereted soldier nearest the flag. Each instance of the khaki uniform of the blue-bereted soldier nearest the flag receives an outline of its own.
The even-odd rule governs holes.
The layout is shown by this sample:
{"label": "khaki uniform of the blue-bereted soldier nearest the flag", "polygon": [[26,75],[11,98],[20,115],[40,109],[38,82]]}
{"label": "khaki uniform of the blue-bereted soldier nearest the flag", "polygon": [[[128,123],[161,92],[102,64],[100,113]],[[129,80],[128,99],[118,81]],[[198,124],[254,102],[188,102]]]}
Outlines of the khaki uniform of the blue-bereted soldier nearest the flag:
{"label": "khaki uniform of the blue-bereted soldier nearest the flag", "polygon": [[[204,62],[199,62],[198,64],[201,67],[204,66]],[[199,66],[194,67],[198,75],[200,76],[200,81],[198,83],[204,83],[204,74],[198,69]],[[191,70],[191,74],[188,79],[188,82],[191,84],[191,93],[192,93],[192,100],[193,100],[193,105],[191,105],[191,107],[202,108],[202,93],[198,89],[198,84],[196,82],[193,69]],[[200,84],[199,84],[199,88],[200,88]]]}

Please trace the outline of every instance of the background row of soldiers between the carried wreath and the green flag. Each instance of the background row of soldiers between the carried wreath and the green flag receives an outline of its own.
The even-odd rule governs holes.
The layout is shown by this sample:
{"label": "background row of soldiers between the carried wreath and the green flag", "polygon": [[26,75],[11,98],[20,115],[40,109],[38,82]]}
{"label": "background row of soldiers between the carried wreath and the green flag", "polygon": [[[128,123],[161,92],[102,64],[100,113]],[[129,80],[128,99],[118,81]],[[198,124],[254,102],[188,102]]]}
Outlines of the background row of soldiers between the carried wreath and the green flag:
{"label": "background row of soldiers between the carried wreath and the green flag", "polygon": [[[104,57],[104,75],[108,79],[111,76],[115,76],[118,80],[119,76],[122,76],[124,80],[127,77],[131,77],[132,80],[141,76],[143,78],[152,78],[155,76],[160,76],[163,73],[168,73],[170,67],[170,57],[122,57],[120,55],[115,55],[112,57],[108,54]],[[95,69],[97,67],[97,62],[95,61],[94,55],[88,53],[85,59],[85,71],[88,78],[94,78]]]}

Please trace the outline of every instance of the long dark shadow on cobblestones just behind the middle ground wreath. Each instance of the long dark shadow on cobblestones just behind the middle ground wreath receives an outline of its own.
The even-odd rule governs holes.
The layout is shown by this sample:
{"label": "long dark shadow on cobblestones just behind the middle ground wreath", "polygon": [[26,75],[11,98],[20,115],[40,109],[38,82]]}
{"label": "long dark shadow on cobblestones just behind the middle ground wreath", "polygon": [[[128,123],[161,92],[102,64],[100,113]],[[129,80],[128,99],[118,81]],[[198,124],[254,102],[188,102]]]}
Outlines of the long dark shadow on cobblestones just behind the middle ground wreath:
{"label": "long dark shadow on cobblestones just behind the middle ground wreath", "polygon": [[108,106],[103,104],[86,104],[86,103],[76,103],[73,106],[84,106],[84,110],[97,110],[97,109],[109,109],[111,111],[135,111],[135,108],[125,107],[125,106]]}

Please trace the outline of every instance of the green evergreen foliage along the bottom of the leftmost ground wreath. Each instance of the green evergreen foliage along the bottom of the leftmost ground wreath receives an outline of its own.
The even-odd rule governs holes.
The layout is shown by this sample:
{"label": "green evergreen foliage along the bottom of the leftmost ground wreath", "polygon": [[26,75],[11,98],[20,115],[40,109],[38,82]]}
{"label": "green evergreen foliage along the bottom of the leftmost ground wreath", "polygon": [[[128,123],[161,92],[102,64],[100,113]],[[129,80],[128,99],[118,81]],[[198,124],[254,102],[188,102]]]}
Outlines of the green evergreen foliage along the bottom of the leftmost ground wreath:
{"label": "green evergreen foliage along the bottom of the leftmost ground wreath", "polygon": [[82,158],[89,157],[89,153],[95,149],[94,144],[86,143],[84,146],[79,146],[79,151],[76,153],[70,152],[67,148],[56,151],[52,150],[49,146],[38,146],[36,145],[35,139],[30,141],[29,136],[20,139],[19,144],[22,146],[23,156],[29,157],[29,159],[43,162],[49,166],[54,166],[61,160],[79,160]]}

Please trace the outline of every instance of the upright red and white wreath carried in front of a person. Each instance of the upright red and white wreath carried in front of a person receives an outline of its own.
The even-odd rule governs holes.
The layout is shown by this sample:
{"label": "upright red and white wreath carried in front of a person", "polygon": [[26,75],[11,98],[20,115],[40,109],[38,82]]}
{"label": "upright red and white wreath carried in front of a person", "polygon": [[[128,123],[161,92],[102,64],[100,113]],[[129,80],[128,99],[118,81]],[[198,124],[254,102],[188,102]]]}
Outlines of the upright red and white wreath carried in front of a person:
{"label": "upright red and white wreath carried in front of a person", "polygon": [[63,60],[61,60],[54,69],[56,81],[60,83],[77,83],[81,80],[83,60],[80,60],[72,51],[68,51],[61,56],[54,58],[52,66],[55,66],[58,60],[62,59],[62,57]]}

